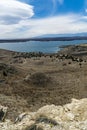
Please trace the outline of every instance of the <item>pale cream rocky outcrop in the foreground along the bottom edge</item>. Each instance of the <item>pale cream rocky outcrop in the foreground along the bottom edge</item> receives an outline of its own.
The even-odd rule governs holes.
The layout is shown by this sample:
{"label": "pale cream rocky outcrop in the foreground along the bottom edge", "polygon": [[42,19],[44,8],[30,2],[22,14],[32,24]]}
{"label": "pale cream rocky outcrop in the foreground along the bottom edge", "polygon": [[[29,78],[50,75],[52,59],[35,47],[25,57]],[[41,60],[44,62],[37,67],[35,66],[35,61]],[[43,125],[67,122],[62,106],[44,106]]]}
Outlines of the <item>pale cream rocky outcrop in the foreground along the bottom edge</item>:
{"label": "pale cream rocky outcrop in the foreground along the bottom edge", "polygon": [[72,99],[64,106],[47,105],[37,112],[22,113],[14,123],[1,122],[0,130],[87,130],[87,99]]}

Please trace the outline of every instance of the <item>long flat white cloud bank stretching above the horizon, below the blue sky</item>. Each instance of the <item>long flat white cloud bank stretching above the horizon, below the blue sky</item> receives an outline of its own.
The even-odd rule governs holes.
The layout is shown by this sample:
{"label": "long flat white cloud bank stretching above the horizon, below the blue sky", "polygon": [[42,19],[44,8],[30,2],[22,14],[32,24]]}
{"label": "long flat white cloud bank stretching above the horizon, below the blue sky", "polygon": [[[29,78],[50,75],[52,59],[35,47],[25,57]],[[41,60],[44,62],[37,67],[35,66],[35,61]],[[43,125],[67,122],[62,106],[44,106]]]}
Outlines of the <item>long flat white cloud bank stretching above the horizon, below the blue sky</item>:
{"label": "long flat white cloud bank stretching above the horizon, below the blue sky", "polygon": [[79,15],[56,16],[45,19],[21,20],[18,24],[0,26],[2,38],[28,38],[45,34],[74,34],[87,32],[87,19]]}

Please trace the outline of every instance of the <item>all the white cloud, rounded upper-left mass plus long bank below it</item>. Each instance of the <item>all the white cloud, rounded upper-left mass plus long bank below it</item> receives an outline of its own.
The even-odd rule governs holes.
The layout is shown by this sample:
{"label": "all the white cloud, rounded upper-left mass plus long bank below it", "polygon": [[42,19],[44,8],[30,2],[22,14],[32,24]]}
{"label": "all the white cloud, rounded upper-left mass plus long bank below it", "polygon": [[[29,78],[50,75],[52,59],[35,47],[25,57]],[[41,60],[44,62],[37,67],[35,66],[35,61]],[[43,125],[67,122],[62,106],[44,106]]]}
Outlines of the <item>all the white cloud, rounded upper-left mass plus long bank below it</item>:
{"label": "all the white cloud, rounded upper-left mass plus long bank below it", "polygon": [[68,14],[31,19],[33,6],[17,0],[0,0],[0,38],[28,38],[46,34],[87,32],[87,17]]}

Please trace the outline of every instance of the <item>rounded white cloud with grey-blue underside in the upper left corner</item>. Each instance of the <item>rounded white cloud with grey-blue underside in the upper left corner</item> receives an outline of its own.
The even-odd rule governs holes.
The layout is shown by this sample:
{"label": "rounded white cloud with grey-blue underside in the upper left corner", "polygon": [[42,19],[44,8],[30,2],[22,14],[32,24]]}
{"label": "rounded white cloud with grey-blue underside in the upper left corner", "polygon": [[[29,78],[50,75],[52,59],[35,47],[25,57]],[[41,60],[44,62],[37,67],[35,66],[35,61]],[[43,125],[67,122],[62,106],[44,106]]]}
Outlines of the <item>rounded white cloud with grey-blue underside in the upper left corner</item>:
{"label": "rounded white cloud with grey-blue underside in the upper left corner", "polygon": [[33,6],[17,0],[0,0],[0,24],[18,23],[34,15]]}

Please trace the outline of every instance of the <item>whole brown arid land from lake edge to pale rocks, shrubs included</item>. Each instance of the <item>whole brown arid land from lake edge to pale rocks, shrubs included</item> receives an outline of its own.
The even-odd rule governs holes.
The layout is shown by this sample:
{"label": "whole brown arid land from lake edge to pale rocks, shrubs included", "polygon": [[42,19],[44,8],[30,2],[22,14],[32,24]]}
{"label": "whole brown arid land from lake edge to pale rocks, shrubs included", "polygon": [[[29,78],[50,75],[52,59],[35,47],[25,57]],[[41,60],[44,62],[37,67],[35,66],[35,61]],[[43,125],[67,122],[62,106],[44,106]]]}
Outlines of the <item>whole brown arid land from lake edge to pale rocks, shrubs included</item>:
{"label": "whole brown arid land from lake edge to pale rocks, shrubs included", "polygon": [[57,54],[0,50],[0,104],[9,108],[8,119],[72,98],[87,98],[86,44]]}

